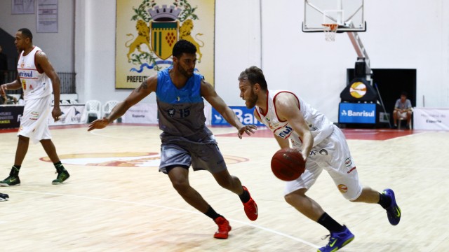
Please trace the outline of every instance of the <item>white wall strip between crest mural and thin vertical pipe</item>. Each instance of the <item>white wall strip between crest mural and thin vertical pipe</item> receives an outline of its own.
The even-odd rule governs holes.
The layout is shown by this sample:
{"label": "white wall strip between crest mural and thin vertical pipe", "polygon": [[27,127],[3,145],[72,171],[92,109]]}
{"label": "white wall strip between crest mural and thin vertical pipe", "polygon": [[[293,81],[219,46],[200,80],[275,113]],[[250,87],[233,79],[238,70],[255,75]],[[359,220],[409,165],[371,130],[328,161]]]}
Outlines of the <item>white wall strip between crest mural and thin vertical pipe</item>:
{"label": "white wall strip between crest mural and thin vertical pipe", "polygon": [[215,90],[228,105],[244,106],[237,78],[261,64],[260,1],[215,3]]}

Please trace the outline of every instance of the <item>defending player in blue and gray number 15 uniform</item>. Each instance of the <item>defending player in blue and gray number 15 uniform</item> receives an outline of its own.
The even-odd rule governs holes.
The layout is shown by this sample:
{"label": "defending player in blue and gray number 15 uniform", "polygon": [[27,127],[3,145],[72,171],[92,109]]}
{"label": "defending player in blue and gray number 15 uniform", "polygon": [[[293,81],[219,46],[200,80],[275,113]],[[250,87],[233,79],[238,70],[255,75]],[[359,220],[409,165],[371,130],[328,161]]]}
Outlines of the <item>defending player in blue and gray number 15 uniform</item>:
{"label": "defending player in blue and gray number 15 uniform", "polygon": [[231,231],[229,221],[217,214],[189,185],[189,167],[192,165],[194,171],[208,170],[220,186],[239,195],[246,216],[251,221],[257,219],[257,204],[239,178],[229,174],[215,137],[205,125],[203,98],[237,128],[239,138],[243,133],[253,133],[256,127],[242,125],[212,85],[201,74],[194,72],[195,64],[195,45],[185,40],[177,41],[173,46],[173,66],[147,78],[123,102],[117,104],[107,118],[93,121],[88,130],[106,127],[109,122],[123,116],[131,106],[155,92],[159,129],[162,130],[159,172],[168,174],[173,188],[187,203],[215,221],[218,225],[215,238],[227,239]]}

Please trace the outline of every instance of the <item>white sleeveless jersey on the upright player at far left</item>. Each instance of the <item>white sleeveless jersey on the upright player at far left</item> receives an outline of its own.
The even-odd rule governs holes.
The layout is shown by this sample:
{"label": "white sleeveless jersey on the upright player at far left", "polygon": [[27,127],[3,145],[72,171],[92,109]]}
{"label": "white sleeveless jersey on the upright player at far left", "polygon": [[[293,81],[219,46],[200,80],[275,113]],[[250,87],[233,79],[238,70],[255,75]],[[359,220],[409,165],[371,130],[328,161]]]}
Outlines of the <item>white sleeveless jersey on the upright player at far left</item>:
{"label": "white sleeveless jersey on the upright player at far left", "polygon": [[46,73],[39,73],[34,57],[36,52],[41,51],[41,48],[34,46],[33,50],[28,55],[20,53],[17,70],[22,83],[23,98],[25,101],[29,99],[39,99],[46,97],[53,92],[51,80]]}

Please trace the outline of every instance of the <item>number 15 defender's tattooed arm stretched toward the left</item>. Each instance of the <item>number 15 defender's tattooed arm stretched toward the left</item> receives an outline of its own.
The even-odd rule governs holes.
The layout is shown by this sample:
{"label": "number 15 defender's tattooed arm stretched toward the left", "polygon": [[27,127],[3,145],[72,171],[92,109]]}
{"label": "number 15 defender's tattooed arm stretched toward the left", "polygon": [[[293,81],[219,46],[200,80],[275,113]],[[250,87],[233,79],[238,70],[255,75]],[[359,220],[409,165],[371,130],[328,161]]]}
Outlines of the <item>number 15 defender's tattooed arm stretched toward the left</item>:
{"label": "number 15 defender's tattooed arm stretched toward the left", "polygon": [[123,116],[131,106],[134,106],[138,102],[142,101],[142,99],[147,97],[152,92],[156,92],[156,87],[157,75],[147,78],[147,80],[144,80],[139,87],[135,88],[135,90],[133,90],[133,92],[131,92],[128,97],[123,100],[123,102],[119,102],[119,104],[114,106],[114,109],[112,109],[108,117],[94,120],[89,125],[88,131],[106,127],[110,122]]}

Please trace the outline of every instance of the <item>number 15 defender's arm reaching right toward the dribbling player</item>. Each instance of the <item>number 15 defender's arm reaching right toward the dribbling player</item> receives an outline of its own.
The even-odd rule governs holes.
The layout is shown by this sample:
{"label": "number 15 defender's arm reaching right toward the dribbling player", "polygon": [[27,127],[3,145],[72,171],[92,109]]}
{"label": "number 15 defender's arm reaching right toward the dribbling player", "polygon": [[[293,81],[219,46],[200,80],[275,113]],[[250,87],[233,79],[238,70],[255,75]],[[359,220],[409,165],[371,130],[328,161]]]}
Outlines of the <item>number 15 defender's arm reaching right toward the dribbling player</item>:
{"label": "number 15 defender's arm reaching right toward the dribbling player", "polygon": [[242,138],[243,133],[251,135],[254,133],[254,130],[257,130],[256,125],[243,125],[239,118],[237,118],[236,113],[232,111],[232,109],[227,106],[225,101],[215,92],[212,85],[210,83],[206,83],[206,81],[201,80],[201,96],[206,99],[210,103],[213,108],[222,115],[223,118],[232,126],[236,127],[239,132],[237,136],[239,139]]}

